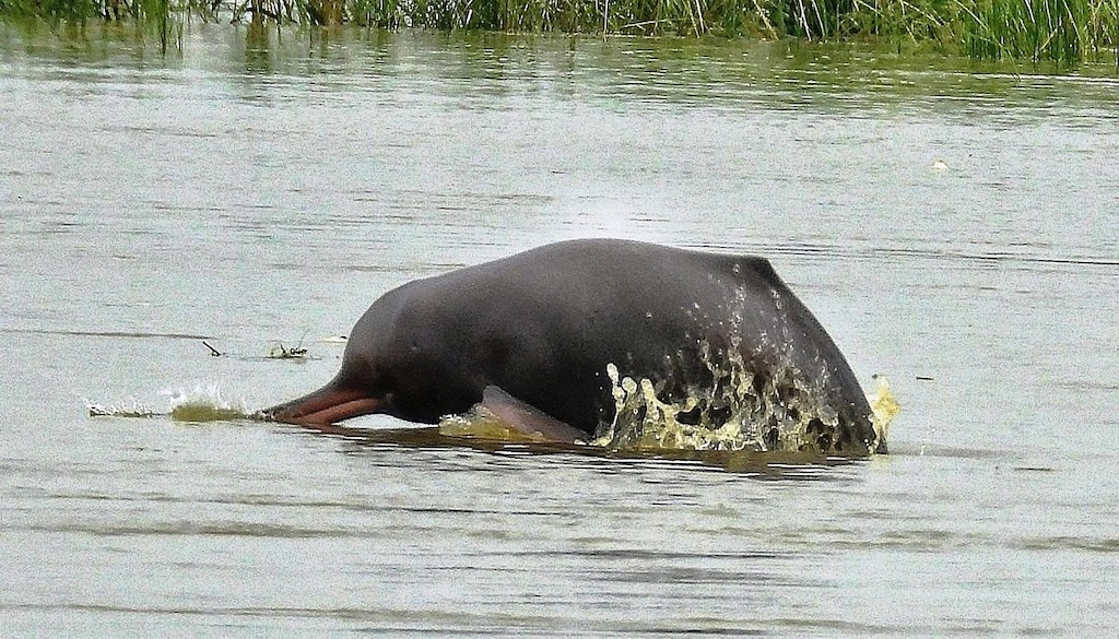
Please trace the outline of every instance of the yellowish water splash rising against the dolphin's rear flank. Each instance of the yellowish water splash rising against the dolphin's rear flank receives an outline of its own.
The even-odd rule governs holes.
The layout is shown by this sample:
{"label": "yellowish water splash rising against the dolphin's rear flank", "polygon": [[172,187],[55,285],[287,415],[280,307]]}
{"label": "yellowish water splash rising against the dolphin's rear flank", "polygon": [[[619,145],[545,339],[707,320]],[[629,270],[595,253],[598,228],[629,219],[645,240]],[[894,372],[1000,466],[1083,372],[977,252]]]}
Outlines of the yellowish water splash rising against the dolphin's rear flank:
{"label": "yellowish water splash rising against the dolphin's rear flank", "polygon": [[[687,373],[696,366],[683,351],[675,365],[671,358],[666,360],[669,374],[656,383],[627,377],[614,364],[608,365],[614,420],[593,443],[639,451],[836,452],[848,436],[844,432],[848,424],[834,404],[830,367],[819,359],[802,361],[793,347],[798,342],[791,333],[793,322],[784,317],[790,300],[779,286],[769,292],[774,314],[761,320],[749,319],[753,304],[744,288],[733,291],[731,303],[717,317],[707,317],[696,306],[692,314],[697,323],[725,321],[727,328],[725,344],[696,341],[703,370],[698,378]],[[751,348],[743,348],[743,335],[751,336]],[[680,379],[674,372],[692,379]],[[885,441],[883,433],[876,431],[877,441]]]}

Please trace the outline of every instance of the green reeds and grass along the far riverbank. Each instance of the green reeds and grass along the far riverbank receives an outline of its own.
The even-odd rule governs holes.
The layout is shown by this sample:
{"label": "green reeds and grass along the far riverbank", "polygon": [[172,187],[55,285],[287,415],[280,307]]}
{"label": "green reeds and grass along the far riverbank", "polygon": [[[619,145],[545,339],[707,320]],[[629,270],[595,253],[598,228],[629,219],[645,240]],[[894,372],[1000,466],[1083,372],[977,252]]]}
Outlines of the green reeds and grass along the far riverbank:
{"label": "green reeds and grass along the far riverbank", "polygon": [[1066,66],[1119,58],[1119,0],[0,0],[0,16],[884,40]]}

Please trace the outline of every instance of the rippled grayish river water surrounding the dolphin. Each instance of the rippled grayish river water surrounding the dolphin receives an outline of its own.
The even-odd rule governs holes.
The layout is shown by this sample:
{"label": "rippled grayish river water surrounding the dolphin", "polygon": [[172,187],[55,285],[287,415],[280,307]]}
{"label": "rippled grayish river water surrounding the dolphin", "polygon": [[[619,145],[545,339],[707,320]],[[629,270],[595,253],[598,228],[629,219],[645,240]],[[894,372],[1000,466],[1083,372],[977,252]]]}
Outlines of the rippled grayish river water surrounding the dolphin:
{"label": "rippled grayish river water surrounding the dolphin", "polygon": [[[783,43],[0,36],[0,635],[1119,623],[1113,77]],[[385,290],[582,236],[769,256],[867,389],[890,379],[892,454],[735,471],[164,414],[310,391]]]}

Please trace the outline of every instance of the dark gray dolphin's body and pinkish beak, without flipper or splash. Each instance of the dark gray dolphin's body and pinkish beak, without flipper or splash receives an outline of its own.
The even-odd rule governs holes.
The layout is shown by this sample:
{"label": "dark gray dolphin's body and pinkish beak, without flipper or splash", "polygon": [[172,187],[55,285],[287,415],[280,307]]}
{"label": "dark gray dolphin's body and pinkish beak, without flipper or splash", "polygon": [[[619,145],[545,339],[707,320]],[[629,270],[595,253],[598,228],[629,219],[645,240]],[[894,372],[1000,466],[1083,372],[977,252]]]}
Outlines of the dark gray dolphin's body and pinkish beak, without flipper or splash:
{"label": "dark gray dolphin's body and pinkish beak, without flipper or splash", "polygon": [[817,388],[817,403],[838,416],[809,425],[819,452],[874,450],[855,374],[769,261],[620,239],[549,244],[388,291],[354,327],[329,384],[263,415],[309,425],[370,413],[438,423],[497,386],[508,395],[489,396],[511,396],[589,439],[614,419],[608,364],[678,400],[715,384],[703,342],[724,359],[737,348],[760,391],[788,382],[774,401]]}

